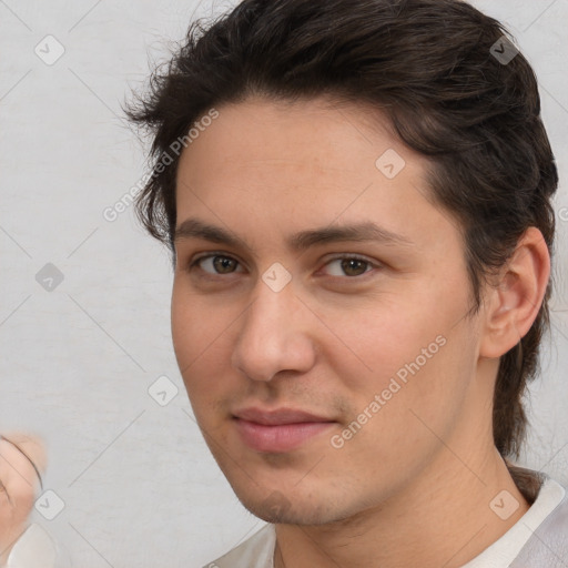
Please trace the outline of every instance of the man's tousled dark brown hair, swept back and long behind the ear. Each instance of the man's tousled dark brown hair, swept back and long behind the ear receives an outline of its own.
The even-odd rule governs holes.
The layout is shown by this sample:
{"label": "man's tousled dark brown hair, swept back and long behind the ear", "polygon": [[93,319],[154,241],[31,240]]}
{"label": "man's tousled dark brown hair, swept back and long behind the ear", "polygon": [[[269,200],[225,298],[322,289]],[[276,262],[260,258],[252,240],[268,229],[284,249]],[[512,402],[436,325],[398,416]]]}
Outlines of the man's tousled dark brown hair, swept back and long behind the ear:
{"label": "man's tousled dark brown hair, swept back and long behind the ear", "polygon": [[[430,159],[433,201],[464,234],[475,313],[488,275],[529,226],[550,254],[555,234],[558,174],[537,80],[507,36],[458,0],[245,0],[207,26],[195,21],[165,69],[154,71],[150,92],[126,109],[153,134],[153,176],[139,195],[139,216],[174,252],[179,156],[161,172],[155,166],[213,105],[250,95],[368,103]],[[549,326],[550,288],[529,332],[500,359],[493,426],[503,456],[518,457],[525,438],[521,397]]]}

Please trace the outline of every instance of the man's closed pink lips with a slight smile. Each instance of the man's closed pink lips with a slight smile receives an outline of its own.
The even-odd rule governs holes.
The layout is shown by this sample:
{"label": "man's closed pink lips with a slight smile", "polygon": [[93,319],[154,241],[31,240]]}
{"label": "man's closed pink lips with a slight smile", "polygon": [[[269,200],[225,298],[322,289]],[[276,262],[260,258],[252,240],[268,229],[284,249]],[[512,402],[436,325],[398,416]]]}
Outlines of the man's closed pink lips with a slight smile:
{"label": "man's closed pink lips with a slight smile", "polygon": [[337,424],[332,418],[292,408],[246,408],[236,412],[233,419],[243,443],[266,453],[291,452]]}

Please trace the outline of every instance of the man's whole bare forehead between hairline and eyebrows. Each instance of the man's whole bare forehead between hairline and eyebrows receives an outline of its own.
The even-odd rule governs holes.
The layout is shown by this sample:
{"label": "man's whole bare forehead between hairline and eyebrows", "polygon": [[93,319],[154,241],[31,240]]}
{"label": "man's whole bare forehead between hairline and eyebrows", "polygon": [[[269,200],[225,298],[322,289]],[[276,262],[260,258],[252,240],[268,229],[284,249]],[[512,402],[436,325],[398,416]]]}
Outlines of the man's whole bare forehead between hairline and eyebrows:
{"label": "man's whole bare forehead between hairline and eyebrows", "polygon": [[248,99],[217,111],[180,159],[178,225],[197,215],[244,232],[367,220],[439,232],[429,163],[368,106]]}

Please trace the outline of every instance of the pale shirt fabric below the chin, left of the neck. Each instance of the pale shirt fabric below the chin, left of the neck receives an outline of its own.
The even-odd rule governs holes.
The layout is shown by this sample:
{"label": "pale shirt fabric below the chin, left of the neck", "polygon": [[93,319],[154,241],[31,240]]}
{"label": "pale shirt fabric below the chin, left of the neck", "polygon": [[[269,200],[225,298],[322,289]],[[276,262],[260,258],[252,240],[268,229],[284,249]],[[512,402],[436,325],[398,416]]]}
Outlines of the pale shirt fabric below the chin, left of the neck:
{"label": "pale shirt fabric below the chin, left of the neck", "polygon": [[274,525],[265,525],[251,538],[203,568],[273,568],[275,542]]}

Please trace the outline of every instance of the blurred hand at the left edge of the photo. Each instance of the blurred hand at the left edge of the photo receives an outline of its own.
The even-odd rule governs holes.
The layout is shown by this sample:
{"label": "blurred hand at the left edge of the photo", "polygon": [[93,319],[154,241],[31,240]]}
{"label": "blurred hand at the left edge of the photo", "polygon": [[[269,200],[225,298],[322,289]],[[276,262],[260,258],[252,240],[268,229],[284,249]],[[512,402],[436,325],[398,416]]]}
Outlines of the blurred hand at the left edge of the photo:
{"label": "blurred hand at the left edge of the photo", "polygon": [[21,433],[0,435],[0,566],[28,528],[28,517],[45,473],[42,440]]}

